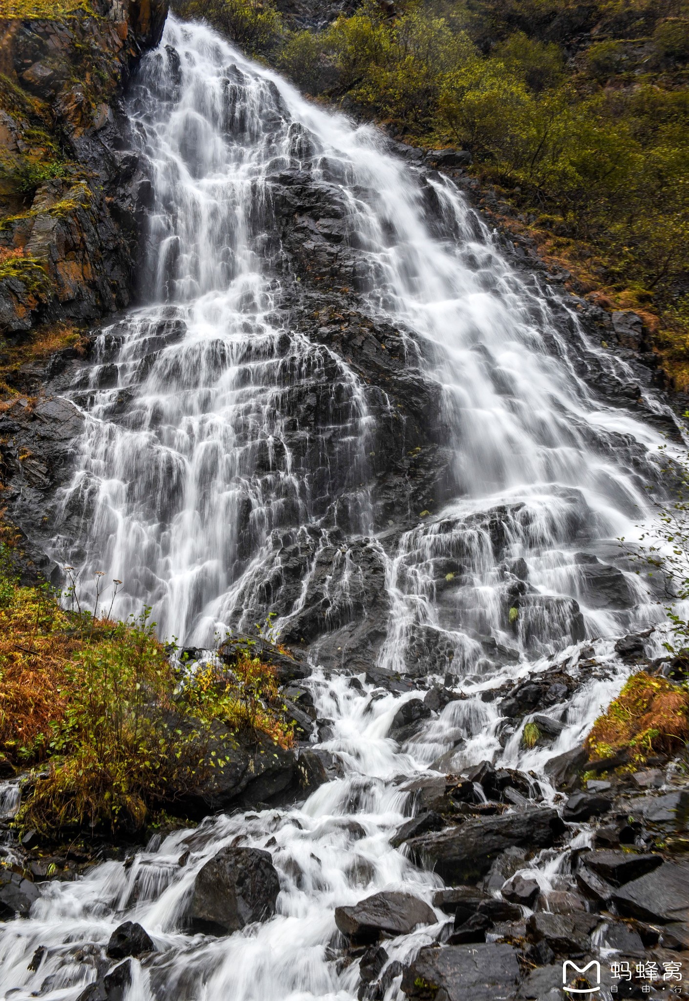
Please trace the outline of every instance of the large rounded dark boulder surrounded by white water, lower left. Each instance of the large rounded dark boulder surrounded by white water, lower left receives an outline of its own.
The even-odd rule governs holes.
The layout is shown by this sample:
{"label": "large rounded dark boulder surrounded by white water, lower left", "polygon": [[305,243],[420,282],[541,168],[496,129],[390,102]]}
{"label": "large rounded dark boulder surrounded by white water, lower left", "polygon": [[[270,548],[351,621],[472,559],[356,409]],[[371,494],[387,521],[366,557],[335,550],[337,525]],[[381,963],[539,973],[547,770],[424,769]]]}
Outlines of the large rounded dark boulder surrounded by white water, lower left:
{"label": "large rounded dark boulder surrounded by white water, lower left", "polygon": [[279,880],[270,855],[225,848],[197,873],[180,915],[184,931],[227,935],[275,911]]}

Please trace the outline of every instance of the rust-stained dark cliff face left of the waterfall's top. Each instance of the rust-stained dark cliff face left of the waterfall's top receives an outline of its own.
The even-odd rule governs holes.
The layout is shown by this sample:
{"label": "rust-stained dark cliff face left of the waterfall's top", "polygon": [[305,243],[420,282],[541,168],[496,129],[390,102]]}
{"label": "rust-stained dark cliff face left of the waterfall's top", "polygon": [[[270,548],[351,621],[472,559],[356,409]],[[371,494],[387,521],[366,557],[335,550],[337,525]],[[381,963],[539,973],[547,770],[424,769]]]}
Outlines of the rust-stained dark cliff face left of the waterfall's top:
{"label": "rust-stained dark cliff face left of the waterfall's top", "polygon": [[32,113],[3,109],[10,159],[21,162],[27,135],[39,127],[59,135],[84,171],[77,182],[40,183],[29,211],[11,216],[0,233],[0,247],[23,248],[38,262],[0,281],[0,332],[9,335],[37,319],[96,319],[130,299],[141,221],[134,192],[143,173],[118,100],[141,53],[160,39],[167,2],[95,6],[100,16],[72,18],[69,27],[25,20],[8,35],[12,82],[34,99],[23,105]]}

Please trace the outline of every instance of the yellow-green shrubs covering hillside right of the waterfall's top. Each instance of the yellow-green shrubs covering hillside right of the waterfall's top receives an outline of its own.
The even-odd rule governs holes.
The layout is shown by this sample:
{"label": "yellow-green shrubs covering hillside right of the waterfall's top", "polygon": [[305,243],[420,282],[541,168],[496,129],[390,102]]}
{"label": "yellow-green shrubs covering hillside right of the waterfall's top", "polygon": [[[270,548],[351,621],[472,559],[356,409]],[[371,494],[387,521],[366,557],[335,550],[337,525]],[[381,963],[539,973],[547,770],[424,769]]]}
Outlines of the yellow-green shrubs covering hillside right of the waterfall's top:
{"label": "yellow-green shrubs covering hillside right of the waterfall's top", "polygon": [[640,308],[689,385],[688,0],[363,0],[320,31],[269,0],[176,0],[304,91],[462,146],[585,289]]}

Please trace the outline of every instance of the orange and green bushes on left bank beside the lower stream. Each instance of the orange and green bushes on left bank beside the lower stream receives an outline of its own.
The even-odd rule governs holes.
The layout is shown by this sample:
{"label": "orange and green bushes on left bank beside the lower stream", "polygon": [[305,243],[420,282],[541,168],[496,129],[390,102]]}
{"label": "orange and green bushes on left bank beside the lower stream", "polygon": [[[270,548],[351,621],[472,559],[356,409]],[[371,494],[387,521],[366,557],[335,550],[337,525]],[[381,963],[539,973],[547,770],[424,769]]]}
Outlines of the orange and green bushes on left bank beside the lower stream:
{"label": "orange and green bushes on left bank beside the lower stream", "polygon": [[249,646],[231,671],[217,663],[191,674],[145,610],[126,623],[67,611],[48,584],[22,585],[17,567],[0,544],[0,757],[40,765],[21,824],[53,835],[138,830],[151,809],[225,767],[208,753],[218,722],[243,739],[291,744],[274,669]]}

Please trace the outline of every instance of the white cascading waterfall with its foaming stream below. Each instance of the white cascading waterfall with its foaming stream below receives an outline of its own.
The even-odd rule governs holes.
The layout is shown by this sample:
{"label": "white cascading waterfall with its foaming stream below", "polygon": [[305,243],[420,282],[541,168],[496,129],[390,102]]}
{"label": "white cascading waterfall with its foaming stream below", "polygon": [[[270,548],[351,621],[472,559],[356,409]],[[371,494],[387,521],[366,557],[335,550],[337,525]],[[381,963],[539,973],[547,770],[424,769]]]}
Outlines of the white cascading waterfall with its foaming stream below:
{"label": "white cascading waterfall with its foaming stream below", "polygon": [[[75,998],[96,976],[96,946],[130,918],[157,950],[135,964],[130,1001],[352,998],[357,966],[333,951],[334,907],[382,888],[431,902],[442,885],[390,845],[411,806],[405,779],[455,747],[456,769],[488,758],[542,774],[619,687],[612,638],[659,621],[638,579],[598,558],[613,560],[609,541],[643,512],[656,475],[646,450],[661,438],[587,387],[580,361],[601,352],[574,311],[566,335],[555,300],[511,269],[455,185],[389,155],[375,130],[308,104],[209,29],[172,18],[129,110],[152,170],[148,304],[103,330],[96,363],[68,390],[86,429],[53,553],[80,569],[85,588],[95,571],[122,581],[114,614],[148,604],[161,635],[197,646],[269,612],[298,639],[320,575],[308,684],[332,721],[322,746],[343,777],[292,809],[208,819],[131,867],[108,862],[80,882],[46,884],[30,920],[0,933],[0,996]],[[299,298],[274,191],[304,178],[331,200],[303,223],[305,257],[318,233],[338,247],[360,308],[390,331],[377,350],[396,350],[437,390],[448,461],[434,511],[410,500],[388,518],[376,452],[387,446],[381,423],[400,423],[394,394],[375,392],[326,334],[292,322],[310,300]],[[320,332],[322,316],[308,315]],[[328,322],[337,330],[344,317]],[[625,377],[623,362],[598,363]],[[448,671],[465,696],[402,748],[388,734],[407,696],[372,699],[370,682],[352,687],[319,667],[328,630],[344,636],[361,604],[362,548],[384,602],[371,655],[382,676]],[[602,595],[606,574],[617,602]],[[553,704],[564,724],[553,746],[525,751],[519,729],[506,737],[482,694],[544,672],[554,655],[574,665],[594,641],[607,673]],[[347,668],[338,642],[328,663]],[[541,794],[553,794],[545,781]],[[219,940],[180,934],[194,874],[238,836],[269,843],[277,915]],[[544,885],[558,865],[545,859]],[[389,965],[438,932],[390,944]],[[389,1001],[402,997],[399,984],[390,978]]]}

